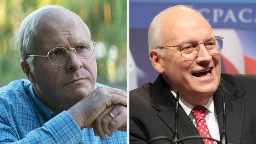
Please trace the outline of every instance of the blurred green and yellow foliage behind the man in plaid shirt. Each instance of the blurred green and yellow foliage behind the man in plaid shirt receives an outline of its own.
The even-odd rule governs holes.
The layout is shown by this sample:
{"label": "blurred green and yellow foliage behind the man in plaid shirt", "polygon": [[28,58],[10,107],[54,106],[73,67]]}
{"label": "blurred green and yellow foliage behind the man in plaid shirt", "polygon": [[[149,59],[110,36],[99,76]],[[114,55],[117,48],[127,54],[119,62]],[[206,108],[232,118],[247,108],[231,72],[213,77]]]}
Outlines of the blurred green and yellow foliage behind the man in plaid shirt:
{"label": "blurred green and yellow foliage behind the man in plaid shirt", "polygon": [[126,0],[0,0],[0,87],[26,78],[20,68],[20,23],[45,5],[63,6],[84,20],[96,42],[97,82],[127,91]]}

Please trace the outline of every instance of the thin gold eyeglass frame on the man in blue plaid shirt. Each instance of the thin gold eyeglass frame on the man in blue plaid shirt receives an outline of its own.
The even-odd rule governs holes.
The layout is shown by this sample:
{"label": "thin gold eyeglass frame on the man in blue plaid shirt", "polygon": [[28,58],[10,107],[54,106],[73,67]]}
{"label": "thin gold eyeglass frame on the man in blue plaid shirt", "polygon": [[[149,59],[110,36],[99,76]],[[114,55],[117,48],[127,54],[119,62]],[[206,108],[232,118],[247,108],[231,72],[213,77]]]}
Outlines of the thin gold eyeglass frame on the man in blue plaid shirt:
{"label": "thin gold eyeglass frame on the man in blue plaid shirt", "polygon": [[[88,40],[88,41],[93,42],[93,45],[96,43],[96,42],[92,41],[91,39],[83,39],[83,40],[81,40],[81,41],[78,41],[78,42],[76,43],[76,45],[77,45],[79,42],[82,42],[82,41],[84,41],[84,40]],[[75,47],[76,47],[76,45],[75,45]],[[76,56],[78,56],[79,58],[82,58],[82,57],[80,57],[80,56],[78,55],[78,53],[76,52],[76,48],[69,48],[69,49],[67,49],[67,48],[65,48],[65,47],[63,47],[63,46],[57,46],[57,47],[55,47],[55,48],[53,48],[53,49],[57,49],[57,48],[64,48],[64,49],[67,51],[67,60],[64,62],[64,64],[66,64],[66,62],[68,61],[68,53],[69,53],[68,51],[69,51],[69,50],[73,50],[74,53],[76,54]],[[50,53],[50,51],[52,51],[53,49],[49,50],[49,52],[47,53],[47,55],[32,55],[32,54],[28,54],[27,56],[33,56],[33,57],[47,57],[48,60],[50,61],[50,63],[53,64],[52,61],[51,61],[50,58],[49,58],[49,53]],[[93,55],[93,53],[94,53],[94,46],[93,46],[93,52],[91,53],[91,55]],[[91,57],[91,55],[90,55],[89,57]],[[89,57],[87,57],[87,58],[89,58]],[[87,59],[87,58],[82,58],[82,59]],[[61,67],[61,66],[63,66],[64,64],[62,64],[62,65],[53,64],[53,65],[58,66],[58,67]]]}

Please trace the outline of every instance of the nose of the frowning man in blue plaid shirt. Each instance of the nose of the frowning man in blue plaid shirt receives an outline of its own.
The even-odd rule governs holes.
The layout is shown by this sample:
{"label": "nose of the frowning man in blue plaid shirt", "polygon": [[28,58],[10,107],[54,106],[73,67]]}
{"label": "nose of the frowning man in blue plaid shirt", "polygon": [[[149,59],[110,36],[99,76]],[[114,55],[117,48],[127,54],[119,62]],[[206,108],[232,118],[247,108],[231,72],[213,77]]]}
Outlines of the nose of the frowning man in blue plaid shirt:
{"label": "nose of the frowning man in blue plaid shirt", "polygon": [[66,71],[78,71],[83,66],[81,59],[76,55],[74,48],[68,49],[68,60],[65,65]]}

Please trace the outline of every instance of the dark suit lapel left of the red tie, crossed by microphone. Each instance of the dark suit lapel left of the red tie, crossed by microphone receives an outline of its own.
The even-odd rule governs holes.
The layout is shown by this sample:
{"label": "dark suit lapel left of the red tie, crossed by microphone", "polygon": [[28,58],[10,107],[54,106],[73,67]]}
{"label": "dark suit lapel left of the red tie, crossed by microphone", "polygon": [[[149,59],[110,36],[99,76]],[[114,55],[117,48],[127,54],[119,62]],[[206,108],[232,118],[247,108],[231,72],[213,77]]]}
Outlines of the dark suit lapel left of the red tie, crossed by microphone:
{"label": "dark suit lapel left of the red tie, crossed by microphone", "polygon": [[[175,131],[175,107],[176,99],[174,98],[172,92],[166,85],[166,82],[163,80],[162,76],[159,75],[157,80],[153,83],[152,86],[152,106],[159,111],[158,117],[166,124],[166,126]],[[187,136],[199,135],[195,126],[191,122],[188,115],[179,105],[179,114],[178,114],[178,134],[180,138]],[[186,143],[188,141],[184,141]],[[190,144],[203,144],[202,139],[193,140],[189,142]]]}

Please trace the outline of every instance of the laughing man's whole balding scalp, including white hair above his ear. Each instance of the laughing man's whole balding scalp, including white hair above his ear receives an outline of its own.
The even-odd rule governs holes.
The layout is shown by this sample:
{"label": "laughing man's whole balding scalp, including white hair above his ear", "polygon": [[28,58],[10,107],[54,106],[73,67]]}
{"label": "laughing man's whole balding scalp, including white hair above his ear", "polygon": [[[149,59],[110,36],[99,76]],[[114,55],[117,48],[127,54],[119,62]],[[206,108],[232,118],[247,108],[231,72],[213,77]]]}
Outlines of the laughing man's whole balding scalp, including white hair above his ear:
{"label": "laughing man's whole balding scalp, including white hair above his ear", "polygon": [[[166,41],[178,37],[180,33],[191,33],[185,28],[194,29],[200,27],[200,23],[211,29],[207,20],[191,6],[176,5],[163,10],[155,16],[150,24],[148,30],[149,51],[166,46]],[[161,49],[158,49],[158,53],[164,56]]]}

